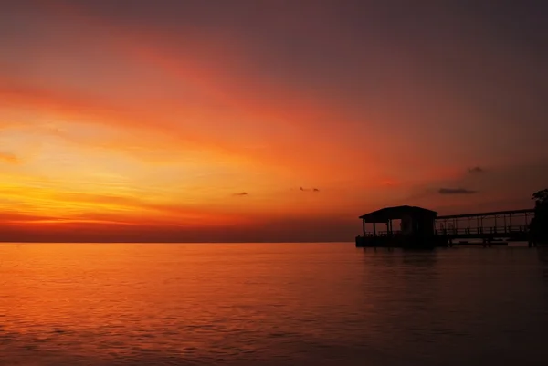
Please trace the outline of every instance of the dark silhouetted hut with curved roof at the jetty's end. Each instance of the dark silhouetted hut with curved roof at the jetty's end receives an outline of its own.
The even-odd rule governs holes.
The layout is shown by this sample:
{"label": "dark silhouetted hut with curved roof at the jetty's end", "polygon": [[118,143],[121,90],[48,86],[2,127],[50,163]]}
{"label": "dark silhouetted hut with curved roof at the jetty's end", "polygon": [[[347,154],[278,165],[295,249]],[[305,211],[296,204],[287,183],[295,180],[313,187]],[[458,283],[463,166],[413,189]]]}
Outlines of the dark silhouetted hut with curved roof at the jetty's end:
{"label": "dark silhouetted hut with curved roof at the jetty's end", "polygon": [[[408,243],[425,241],[434,235],[437,212],[416,206],[385,207],[360,216],[364,236],[356,237],[356,246],[405,246]],[[401,220],[399,230],[394,230],[393,221]],[[365,230],[366,224],[373,224],[373,232]],[[377,224],[385,230],[377,230]]]}

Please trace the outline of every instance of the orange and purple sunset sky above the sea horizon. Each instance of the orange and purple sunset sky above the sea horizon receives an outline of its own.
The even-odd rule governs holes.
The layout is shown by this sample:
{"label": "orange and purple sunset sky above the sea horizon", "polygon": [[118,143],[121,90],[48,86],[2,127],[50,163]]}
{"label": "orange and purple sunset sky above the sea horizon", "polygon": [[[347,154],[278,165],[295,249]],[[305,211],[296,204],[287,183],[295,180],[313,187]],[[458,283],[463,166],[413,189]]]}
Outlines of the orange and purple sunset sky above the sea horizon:
{"label": "orange and purple sunset sky above the sea horizon", "polygon": [[0,240],[351,241],[548,187],[543,1],[0,4]]}

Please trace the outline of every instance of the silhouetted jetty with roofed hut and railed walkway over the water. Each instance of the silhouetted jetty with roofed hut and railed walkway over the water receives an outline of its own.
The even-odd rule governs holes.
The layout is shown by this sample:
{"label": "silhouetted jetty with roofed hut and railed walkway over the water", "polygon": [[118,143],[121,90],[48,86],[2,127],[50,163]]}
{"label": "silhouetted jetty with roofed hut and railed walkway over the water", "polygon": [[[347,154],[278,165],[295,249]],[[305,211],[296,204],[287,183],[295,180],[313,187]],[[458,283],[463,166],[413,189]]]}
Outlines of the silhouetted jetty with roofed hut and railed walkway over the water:
{"label": "silhouetted jetty with roofed hut and railed walkway over the water", "polygon": [[533,216],[534,209],[437,216],[422,207],[385,207],[360,216],[363,235],[355,240],[359,247],[503,246],[515,241],[532,246]]}

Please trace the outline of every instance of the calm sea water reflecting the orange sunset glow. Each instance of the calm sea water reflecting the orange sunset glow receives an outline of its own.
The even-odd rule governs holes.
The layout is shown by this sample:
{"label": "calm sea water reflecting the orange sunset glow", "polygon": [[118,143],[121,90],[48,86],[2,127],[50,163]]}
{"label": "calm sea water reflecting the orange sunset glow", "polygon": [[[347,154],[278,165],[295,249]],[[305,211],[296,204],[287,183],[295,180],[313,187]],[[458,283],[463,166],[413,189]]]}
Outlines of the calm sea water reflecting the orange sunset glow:
{"label": "calm sea water reflecting the orange sunset glow", "polygon": [[2,365],[546,365],[548,250],[0,245]]}

